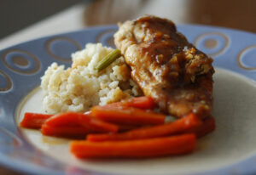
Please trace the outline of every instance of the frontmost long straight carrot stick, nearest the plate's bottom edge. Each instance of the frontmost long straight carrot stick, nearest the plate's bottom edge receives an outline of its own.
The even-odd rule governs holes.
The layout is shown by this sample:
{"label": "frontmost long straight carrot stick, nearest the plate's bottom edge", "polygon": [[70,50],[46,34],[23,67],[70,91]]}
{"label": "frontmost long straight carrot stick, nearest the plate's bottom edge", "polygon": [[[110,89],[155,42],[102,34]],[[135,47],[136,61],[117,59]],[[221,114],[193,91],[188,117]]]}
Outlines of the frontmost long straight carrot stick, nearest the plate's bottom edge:
{"label": "frontmost long straight carrot stick, nearest the plate's bottom edge", "polygon": [[181,155],[195,148],[195,134],[183,134],[166,138],[148,138],[143,140],[90,142],[73,141],[70,151],[80,158],[111,157],[155,157]]}

